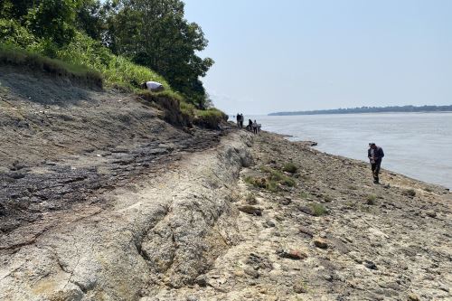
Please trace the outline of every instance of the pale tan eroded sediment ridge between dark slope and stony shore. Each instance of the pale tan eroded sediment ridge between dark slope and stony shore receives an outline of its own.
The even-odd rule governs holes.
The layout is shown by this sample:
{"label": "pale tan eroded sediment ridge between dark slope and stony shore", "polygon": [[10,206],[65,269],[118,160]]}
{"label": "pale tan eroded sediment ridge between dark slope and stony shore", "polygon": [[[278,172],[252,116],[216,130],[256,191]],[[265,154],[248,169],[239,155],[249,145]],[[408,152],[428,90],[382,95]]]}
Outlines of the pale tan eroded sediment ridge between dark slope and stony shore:
{"label": "pale tan eroded sediment ridge between dark slope and stony shore", "polygon": [[0,299],[137,300],[193,284],[239,242],[231,189],[250,165],[248,139],[231,134],[158,177],[105,193],[111,209],[61,214],[58,227],[1,256]]}

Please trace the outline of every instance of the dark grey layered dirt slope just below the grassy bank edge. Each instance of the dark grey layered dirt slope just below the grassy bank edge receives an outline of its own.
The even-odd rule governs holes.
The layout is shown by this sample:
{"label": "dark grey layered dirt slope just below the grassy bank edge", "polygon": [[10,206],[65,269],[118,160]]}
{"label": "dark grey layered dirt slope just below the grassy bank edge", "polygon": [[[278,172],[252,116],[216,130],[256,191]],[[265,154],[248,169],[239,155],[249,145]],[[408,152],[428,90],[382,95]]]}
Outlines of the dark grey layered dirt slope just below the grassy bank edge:
{"label": "dark grey layered dirt slope just below the grassy bank edge", "polygon": [[0,250],[33,241],[54,212],[108,206],[101,193],[165,170],[222,135],[184,131],[163,115],[133,95],[1,67]]}

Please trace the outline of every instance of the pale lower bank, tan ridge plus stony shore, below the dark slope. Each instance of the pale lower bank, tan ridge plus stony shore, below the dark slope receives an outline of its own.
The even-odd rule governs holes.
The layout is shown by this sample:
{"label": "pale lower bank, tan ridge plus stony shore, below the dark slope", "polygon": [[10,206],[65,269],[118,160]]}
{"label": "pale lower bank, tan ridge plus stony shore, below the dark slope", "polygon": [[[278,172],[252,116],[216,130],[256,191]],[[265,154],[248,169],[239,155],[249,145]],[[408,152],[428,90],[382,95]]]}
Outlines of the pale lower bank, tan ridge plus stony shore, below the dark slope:
{"label": "pale lower bank, tan ridge plus stony shore, below the dark slope", "polygon": [[374,185],[363,162],[267,132],[216,137],[4,235],[0,298],[451,297],[443,187],[386,170]]}

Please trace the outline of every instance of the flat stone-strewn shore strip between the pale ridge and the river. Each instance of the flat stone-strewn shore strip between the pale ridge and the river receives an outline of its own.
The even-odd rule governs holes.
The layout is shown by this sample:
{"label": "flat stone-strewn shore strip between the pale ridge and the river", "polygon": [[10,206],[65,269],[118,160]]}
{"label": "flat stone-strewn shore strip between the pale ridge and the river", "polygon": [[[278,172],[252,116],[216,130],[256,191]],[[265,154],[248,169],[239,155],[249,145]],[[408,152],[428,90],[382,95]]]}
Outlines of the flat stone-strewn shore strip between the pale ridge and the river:
{"label": "flat stone-strewn shore strip between the pale ridge and the river", "polygon": [[250,152],[234,197],[240,243],[198,285],[158,300],[451,297],[446,189],[385,170],[375,185],[362,162],[266,132]]}

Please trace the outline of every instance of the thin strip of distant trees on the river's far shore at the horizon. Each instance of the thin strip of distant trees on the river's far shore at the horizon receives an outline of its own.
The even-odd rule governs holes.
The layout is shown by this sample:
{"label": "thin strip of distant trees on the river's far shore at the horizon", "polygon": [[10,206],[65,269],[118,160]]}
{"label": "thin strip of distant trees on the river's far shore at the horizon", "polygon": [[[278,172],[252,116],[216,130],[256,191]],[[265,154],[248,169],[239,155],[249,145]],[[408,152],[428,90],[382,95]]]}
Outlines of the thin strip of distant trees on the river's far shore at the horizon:
{"label": "thin strip of distant trees on the river's far shore at the horizon", "polygon": [[384,113],[384,112],[445,112],[452,111],[451,106],[391,106],[391,107],[361,107],[361,108],[334,108],[317,109],[311,111],[277,112],[268,116],[287,115],[318,115],[318,114],[356,114],[356,113]]}

